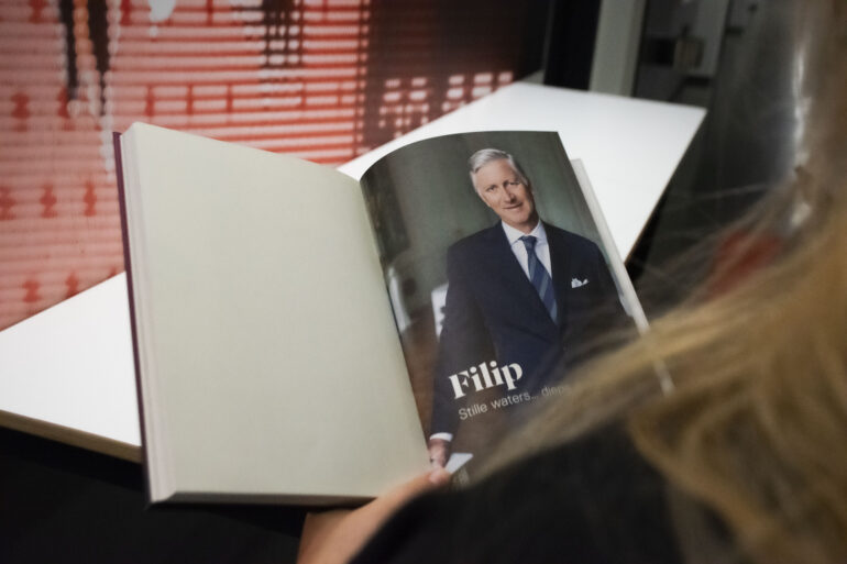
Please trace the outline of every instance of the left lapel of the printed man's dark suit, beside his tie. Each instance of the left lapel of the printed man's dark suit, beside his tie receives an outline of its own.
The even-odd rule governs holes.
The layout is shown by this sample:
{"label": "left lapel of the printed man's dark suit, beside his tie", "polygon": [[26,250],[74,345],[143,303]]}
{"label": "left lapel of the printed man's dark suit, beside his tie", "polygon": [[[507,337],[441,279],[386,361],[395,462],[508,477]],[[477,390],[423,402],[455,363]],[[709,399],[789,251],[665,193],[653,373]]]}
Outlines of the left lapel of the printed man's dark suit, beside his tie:
{"label": "left lapel of the printed man's dark suit, beside his tie", "polygon": [[[491,250],[490,257],[495,264],[501,265],[501,278],[507,286],[509,296],[513,296],[517,303],[525,305],[526,311],[524,321],[526,328],[551,341],[559,339],[559,328],[557,328],[550,314],[547,312],[541,298],[538,296],[532,283],[527,278],[526,273],[520,267],[515,253],[512,252],[509,241],[503,226],[497,223],[488,230],[491,237],[486,248]],[[553,277],[556,280],[556,277]],[[559,299],[557,291],[557,300]],[[561,318],[560,318],[561,319]]]}

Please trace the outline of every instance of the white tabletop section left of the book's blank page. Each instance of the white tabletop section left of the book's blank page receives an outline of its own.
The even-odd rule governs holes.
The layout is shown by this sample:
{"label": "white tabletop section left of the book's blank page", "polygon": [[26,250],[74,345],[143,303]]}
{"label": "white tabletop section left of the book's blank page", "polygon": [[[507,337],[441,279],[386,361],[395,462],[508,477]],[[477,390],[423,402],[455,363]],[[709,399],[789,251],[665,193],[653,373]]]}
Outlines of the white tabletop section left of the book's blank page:
{"label": "white tabletop section left of the book's blank page", "polygon": [[0,332],[0,409],[141,444],[123,273]]}

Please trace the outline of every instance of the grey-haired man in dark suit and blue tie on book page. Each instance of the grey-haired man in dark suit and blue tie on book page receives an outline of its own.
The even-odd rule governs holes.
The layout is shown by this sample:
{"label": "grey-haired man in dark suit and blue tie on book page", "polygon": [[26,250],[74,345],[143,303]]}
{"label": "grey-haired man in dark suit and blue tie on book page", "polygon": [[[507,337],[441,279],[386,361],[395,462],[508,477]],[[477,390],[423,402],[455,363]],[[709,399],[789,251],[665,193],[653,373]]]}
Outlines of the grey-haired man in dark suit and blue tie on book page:
{"label": "grey-haired man in dark suit and blue tie on book page", "polygon": [[493,391],[509,409],[528,401],[623,314],[597,245],[539,219],[529,179],[512,155],[485,148],[469,167],[476,193],[501,221],[447,254],[429,440],[440,465],[460,410],[475,394]]}

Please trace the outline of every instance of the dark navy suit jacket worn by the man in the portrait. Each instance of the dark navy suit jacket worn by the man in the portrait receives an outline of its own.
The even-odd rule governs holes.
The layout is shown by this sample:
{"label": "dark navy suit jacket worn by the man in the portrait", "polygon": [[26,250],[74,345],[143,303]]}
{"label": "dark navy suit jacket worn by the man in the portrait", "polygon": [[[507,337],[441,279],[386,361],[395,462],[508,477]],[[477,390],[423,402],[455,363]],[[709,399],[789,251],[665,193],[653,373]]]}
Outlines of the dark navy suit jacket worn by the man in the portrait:
{"label": "dark navy suit jacket worn by the man in the portrait", "polygon": [[450,375],[488,361],[498,366],[517,363],[522,377],[515,390],[501,386],[503,395],[536,395],[578,360],[586,343],[620,321],[617,290],[597,245],[547,223],[544,231],[558,324],[518,264],[499,222],[448,250],[449,286],[430,433],[455,432],[459,408],[473,401],[473,391],[455,399]]}

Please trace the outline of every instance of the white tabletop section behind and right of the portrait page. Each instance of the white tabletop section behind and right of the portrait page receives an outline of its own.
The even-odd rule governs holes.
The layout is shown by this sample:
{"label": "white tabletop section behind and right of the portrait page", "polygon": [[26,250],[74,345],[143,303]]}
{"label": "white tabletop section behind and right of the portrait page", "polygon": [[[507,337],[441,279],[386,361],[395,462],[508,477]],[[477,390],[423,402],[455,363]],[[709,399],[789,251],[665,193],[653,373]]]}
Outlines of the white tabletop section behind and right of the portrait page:
{"label": "white tabletop section behind and right of the portrait page", "polygon": [[703,120],[701,108],[516,82],[339,167],[360,178],[389,152],[465,131],[559,131],[627,257]]}

